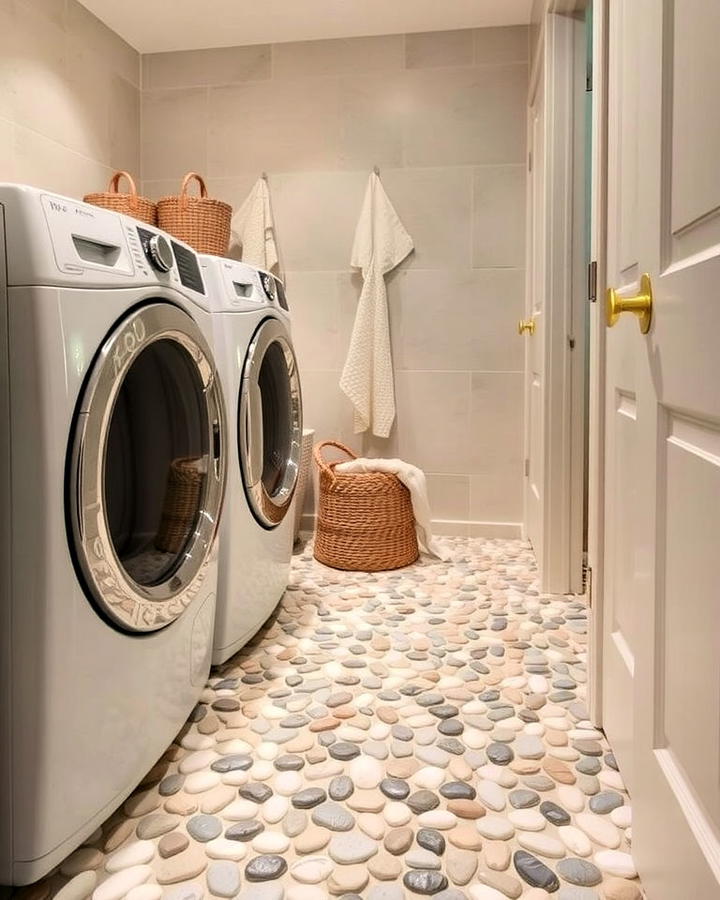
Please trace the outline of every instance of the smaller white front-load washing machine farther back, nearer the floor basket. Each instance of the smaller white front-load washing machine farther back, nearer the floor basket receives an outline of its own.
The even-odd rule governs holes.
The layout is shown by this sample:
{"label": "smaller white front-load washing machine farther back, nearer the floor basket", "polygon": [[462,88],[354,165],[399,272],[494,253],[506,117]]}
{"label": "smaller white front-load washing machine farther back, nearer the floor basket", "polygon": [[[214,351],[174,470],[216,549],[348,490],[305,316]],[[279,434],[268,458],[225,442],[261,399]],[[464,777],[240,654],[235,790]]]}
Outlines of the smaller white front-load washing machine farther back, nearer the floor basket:
{"label": "smaller white front-load washing machine farther back, nearer the floor basket", "polygon": [[203,256],[201,264],[212,285],[229,434],[213,649],[219,664],[257,632],[287,587],[302,396],[282,282],[229,259]]}

